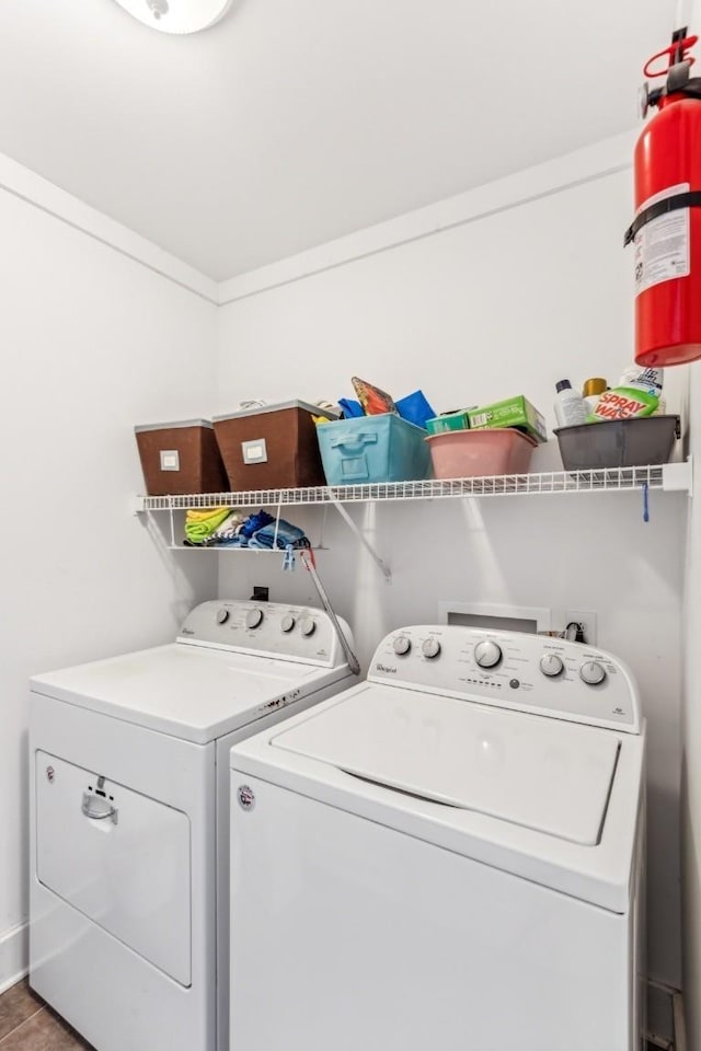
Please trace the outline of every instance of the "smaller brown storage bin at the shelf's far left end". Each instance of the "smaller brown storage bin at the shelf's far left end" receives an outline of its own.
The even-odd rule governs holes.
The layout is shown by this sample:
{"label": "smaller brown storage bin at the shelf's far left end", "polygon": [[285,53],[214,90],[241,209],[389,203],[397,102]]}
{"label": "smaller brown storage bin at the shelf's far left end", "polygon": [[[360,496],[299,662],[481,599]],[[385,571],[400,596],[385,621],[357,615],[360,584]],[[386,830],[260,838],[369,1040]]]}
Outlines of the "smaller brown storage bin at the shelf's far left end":
{"label": "smaller brown storage bin at the shelf's far left end", "polygon": [[227,474],[208,419],[135,427],[149,496],[223,493]]}

